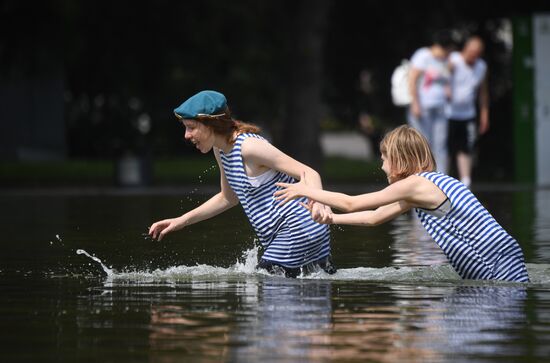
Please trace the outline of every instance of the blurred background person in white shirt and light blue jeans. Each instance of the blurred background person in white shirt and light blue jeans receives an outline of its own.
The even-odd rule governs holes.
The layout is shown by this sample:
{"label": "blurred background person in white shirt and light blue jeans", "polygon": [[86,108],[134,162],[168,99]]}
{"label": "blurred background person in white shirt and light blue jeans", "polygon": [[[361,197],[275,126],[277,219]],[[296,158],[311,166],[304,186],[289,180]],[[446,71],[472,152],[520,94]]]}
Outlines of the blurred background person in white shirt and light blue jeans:
{"label": "blurred background person in white shirt and light blue jeans", "polygon": [[411,58],[409,125],[426,137],[437,170],[447,173],[448,104],[451,71],[448,57],[454,42],[449,30],[434,34],[430,47],[418,49]]}

